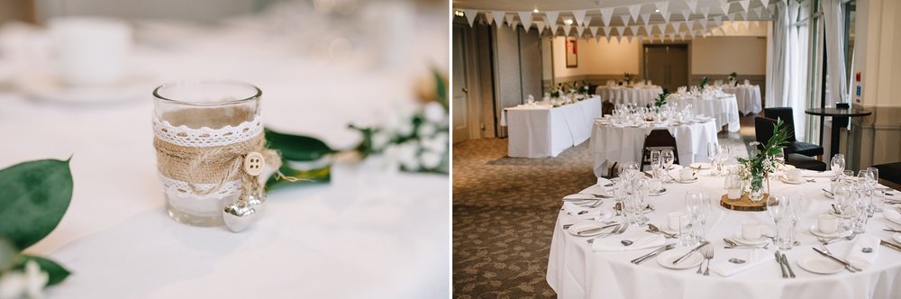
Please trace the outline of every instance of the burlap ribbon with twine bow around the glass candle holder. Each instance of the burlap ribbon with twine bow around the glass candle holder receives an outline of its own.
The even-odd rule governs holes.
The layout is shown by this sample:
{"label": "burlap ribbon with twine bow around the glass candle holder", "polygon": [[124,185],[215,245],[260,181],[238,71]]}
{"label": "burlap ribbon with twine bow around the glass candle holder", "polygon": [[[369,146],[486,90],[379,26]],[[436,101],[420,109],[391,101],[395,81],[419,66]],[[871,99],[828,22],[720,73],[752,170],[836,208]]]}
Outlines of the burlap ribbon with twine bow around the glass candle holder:
{"label": "burlap ribbon with twine bow around the glass candle holder", "polygon": [[[159,138],[153,139],[153,146],[157,149],[159,174],[186,182],[194,195],[214,194],[228,182],[238,181],[241,184],[239,198],[246,198],[250,192],[262,192],[259,179],[245,172],[243,168],[244,159],[251,152],[262,154],[266,164],[276,169],[275,176],[278,179],[296,181],[295,177],[286,177],[278,171],[281,167],[281,157],[278,151],[266,149],[265,145],[266,138],[263,132],[250,140],[214,147],[185,147]],[[199,187],[202,184],[213,187]]]}

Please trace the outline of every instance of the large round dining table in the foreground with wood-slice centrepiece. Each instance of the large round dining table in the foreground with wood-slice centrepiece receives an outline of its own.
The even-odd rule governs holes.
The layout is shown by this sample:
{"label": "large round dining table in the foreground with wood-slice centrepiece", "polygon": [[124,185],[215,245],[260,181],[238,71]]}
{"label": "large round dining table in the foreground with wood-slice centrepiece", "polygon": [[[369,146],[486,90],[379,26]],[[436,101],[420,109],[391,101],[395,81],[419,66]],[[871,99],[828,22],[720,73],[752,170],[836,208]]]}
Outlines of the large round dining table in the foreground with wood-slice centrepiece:
{"label": "large round dining table in the foreground with wood-slice centrepiece", "polygon": [[[590,237],[576,236],[563,229],[567,224],[582,225],[585,222],[620,221],[612,208],[614,199],[605,199],[596,208],[579,206],[577,210],[589,210],[589,213],[576,216],[574,210],[560,211],[554,227],[551,253],[548,262],[547,281],[557,292],[559,298],[897,298],[901,294],[901,251],[887,246],[873,245],[857,253],[869,257],[869,266],[862,271],[851,273],[840,267],[840,271],[830,275],[808,272],[799,262],[831,263],[813,248],[822,249],[823,244],[811,231],[814,229],[817,216],[829,213],[834,201],[822,190],[830,186],[830,173],[819,173],[805,170],[802,175],[804,183],[791,185],[781,181],[770,182],[770,193],[774,195],[797,194],[801,199],[797,202],[800,209],[800,220],[796,224],[795,238],[799,245],[792,249],[779,250],[775,245],[768,249],[725,249],[725,238],[734,239],[740,235],[742,222],[757,221],[763,224],[765,235],[772,235],[774,222],[767,212],[738,212],[727,210],[719,205],[721,195],[725,194],[724,177],[710,177],[707,170],[698,174],[698,179],[691,184],[668,183],[663,195],[649,196],[648,203],[653,211],[646,213],[650,223],[660,228],[669,228],[668,213],[683,211],[684,198],[687,191],[700,191],[709,197],[711,204],[707,222],[703,225],[705,240],[713,247],[712,268],[728,268],[730,260],[747,261],[748,267],[730,276],[722,276],[713,271],[709,276],[696,273],[697,267],[675,270],[662,267],[659,258],[651,258],[641,264],[630,262],[651,252],[653,249],[638,250],[593,250],[587,240]],[[605,178],[598,178],[597,185],[588,186],[580,193],[605,194],[610,183]],[[578,190],[573,190],[577,192]],[[890,193],[887,199],[901,198],[897,192]],[[566,203],[566,202],[564,202]],[[571,206],[570,206],[571,207]],[[896,205],[887,205],[887,211]],[[886,212],[886,214],[889,212]],[[899,223],[890,222],[883,215],[876,213],[869,219],[865,233],[854,240],[840,240],[825,248],[837,258],[846,258],[853,252],[859,252],[857,242],[860,240],[893,240],[893,233],[883,231],[887,225],[898,228]],[[606,219],[603,215],[607,215]],[[587,217],[586,217],[587,216]],[[584,219],[594,218],[594,219]],[[901,220],[896,220],[901,222]],[[569,226],[568,226],[569,227]],[[646,227],[629,227],[619,235],[604,237],[594,242],[611,243],[617,239],[642,240],[653,235]],[[665,239],[666,243],[676,243],[673,252],[687,252],[691,247],[678,246],[676,239]],[[618,241],[616,242],[618,244]],[[879,244],[877,241],[876,244]],[[681,250],[681,251],[679,251]],[[787,257],[795,278],[783,277],[775,253],[780,251]],[[852,252],[853,251],[853,252]],[[664,252],[665,253],[665,252]],[[661,254],[662,255],[662,254]],[[872,256],[867,256],[872,255]],[[726,266],[724,266],[726,265]],[[833,267],[835,265],[832,265]]]}

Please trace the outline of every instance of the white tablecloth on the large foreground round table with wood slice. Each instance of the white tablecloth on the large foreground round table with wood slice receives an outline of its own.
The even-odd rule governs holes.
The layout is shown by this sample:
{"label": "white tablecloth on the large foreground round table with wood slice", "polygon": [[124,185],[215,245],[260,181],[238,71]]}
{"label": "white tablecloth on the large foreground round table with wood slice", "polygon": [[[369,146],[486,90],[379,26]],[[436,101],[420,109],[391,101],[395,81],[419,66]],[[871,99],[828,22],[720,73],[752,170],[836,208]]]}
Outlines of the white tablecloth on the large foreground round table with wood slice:
{"label": "white tablecloth on the large foreground round table with wood slice", "polygon": [[[602,179],[603,180],[603,179]],[[548,284],[559,298],[686,298],[686,299],[742,299],[742,298],[897,298],[901,294],[901,252],[884,246],[874,248],[878,258],[872,267],[861,273],[845,270],[834,275],[812,274],[796,262],[806,256],[816,256],[811,247],[820,243],[808,230],[815,223],[815,216],[827,213],[833,200],[826,198],[820,188],[828,187],[828,178],[820,177],[816,183],[801,186],[771,182],[775,194],[798,193],[803,196],[804,213],[796,227],[796,239],[801,246],[784,250],[796,278],[784,279],[773,256],[776,250],[770,246],[769,261],[734,276],[722,277],[711,271],[710,276],[695,273],[696,267],[686,270],[670,270],[661,267],[656,258],[633,265],[629,261],[652,249],[625,252],[594,252],[587,238],[575,237],[562,230],[563,224],[578,222],[578,218],[560,213],[551,241],[551,257],[548,262]],[[604,180],[605,181],[605,180]],[[657,212],[649,213],[651,223],[658,226],[667,223],[667,213],[684,207],[687,190],[700,190],[719,198],[724,195],[723,178],[702,178],[694,184],[666,184],[668,193],[650,197]],[[575,190],[574,190],[575,191]],[[898,197],[898,195],[896,195]],[[611,208],[614,201],[602,206]],[[718,204],[718,199],[714,201]],[[707,222],[707,240],[715,248],[711,265],[729,258],[740,257],[747,249],[724,249],[723,238],[732,238],[745,219],[755,219],[773,229],[773,222],[766,212],[733,212],[713,206],[714,213]],[[888,221],[878,214],[869,220],[868,234],[890,240],[890,234],[882,231]],[[897,225],[896,225],[897,226]],[[631,227],[622,238],[635,240],[650,232]],[[673,242],[674,240],[668,240]],[[852,242],[841,241],[828,248],[843,258]]]}

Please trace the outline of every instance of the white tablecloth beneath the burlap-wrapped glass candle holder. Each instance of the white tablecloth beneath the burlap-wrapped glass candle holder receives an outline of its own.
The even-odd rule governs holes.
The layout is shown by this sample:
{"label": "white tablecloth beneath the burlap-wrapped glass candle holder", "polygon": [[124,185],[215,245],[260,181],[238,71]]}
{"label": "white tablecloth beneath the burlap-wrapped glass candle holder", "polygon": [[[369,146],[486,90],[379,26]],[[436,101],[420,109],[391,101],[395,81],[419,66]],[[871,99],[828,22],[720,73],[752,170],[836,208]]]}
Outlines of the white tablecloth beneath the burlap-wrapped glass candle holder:
{"label": "white tablecloth beneath the burlap-wrapped glass candle holder", "polygon": [[[179,79],[249,82],[263,91],[267,126],[350,149],[360,136],[347,129],[349,123],[370,126],[409,113],[416,78],[431,78],[431,65],[448,65],[447,22],[434,21],[447,19],[442,9],[426,13],[417,11],[419,17],[411,16],[416,26],[405,27],[419,48],[405,57],[408,63],[390,69],[311,60],[299,50],[309,40],[262,31],[269,23],[248,18],[240,22],[247,27],[142,23],[134,63],[148,86]],[[23,53],[37,49],[30,48],[31,39],[3,33],[0,44],[22,46]],[[6,58],[32,69],[41,64]],[[56,230],[27,250],[72,271],[62,284],[47,289],[49,298],[438,298],[451,293],[445,175],[398,174],[374,160],[344,156],[332,168],[330,184],[271,193],[266,211],[247,231],[169,219],[152,145],[151,91],[112,104],[48,103],[0,82],[0,168],[72,157],[75,186],[68,212]]]}

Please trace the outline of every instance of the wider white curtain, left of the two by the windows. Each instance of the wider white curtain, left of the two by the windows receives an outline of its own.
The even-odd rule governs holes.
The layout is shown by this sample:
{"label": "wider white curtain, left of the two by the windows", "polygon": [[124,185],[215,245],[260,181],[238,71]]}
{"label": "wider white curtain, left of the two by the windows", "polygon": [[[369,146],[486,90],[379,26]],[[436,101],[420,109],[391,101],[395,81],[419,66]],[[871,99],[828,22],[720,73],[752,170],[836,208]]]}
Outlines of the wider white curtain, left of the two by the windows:
{"label": "wider white curtain, left of the two by the windows", "polygon": [[767,107],[794,108],[795,136],[804,140],[809,33],[806,24],[797,26],[796,21],[798,15],[808,13],[796,1],[779,1],[775,6],[768,49],[772,59],[767,66]]}

